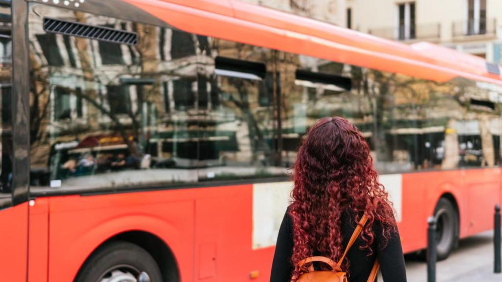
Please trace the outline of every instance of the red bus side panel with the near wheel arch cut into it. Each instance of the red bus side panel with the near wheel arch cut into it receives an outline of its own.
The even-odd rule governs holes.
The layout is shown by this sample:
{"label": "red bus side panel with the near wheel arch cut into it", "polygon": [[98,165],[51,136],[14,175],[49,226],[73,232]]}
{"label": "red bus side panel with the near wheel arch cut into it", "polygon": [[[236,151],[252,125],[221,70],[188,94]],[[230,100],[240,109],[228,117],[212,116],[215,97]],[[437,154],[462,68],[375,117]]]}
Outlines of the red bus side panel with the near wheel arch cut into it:
{"label": "red bus side panel with the near wheel arch cut into it", "polygon": [[172,250],[182,281],[193,280],[194,201],[171,190],[50,199],[49,281],[71,281],[86,258],[108,238],[149,232]]}

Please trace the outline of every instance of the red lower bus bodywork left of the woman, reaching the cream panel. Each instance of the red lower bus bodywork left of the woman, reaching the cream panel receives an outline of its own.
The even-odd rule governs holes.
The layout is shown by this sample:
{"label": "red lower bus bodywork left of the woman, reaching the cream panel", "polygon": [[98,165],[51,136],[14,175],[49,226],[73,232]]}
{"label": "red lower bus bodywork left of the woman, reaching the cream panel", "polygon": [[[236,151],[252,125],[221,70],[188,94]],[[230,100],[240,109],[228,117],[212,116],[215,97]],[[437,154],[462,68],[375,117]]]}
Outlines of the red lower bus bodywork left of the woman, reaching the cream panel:
{"label": "red lower bus bodywork left of the woman, reaching the cream panel", "polygon": [[[39,198],[49,204],[48,281],[71,281],[106,239],[141,230],[173,251],[182,281],[266,281],[274,248],[252,249],[253,185]],[[34,210],[34,209],[33,209]],[[31,281],[46,281],[47,214],[32,210]],[[1,214],[1,213],[0,213]],[[45,234],[45,235],[44,235]],[[45,237],[44,237],[45,236]],[[38,261],[38,259],[42,261]],[[33,268],[32,268],[33,266]]]}

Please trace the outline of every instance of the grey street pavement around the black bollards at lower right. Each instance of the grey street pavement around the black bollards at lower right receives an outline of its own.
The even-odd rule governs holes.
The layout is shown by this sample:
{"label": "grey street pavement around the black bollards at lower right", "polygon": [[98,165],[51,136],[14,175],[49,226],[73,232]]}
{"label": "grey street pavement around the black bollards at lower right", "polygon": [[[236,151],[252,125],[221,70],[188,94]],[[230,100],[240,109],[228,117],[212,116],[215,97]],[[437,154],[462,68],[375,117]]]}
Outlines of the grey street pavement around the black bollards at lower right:
{"label": "grey street pavement around the black bollards at lower right", "polygon": [[[409,282],[427,282],[424,261],[407,255],[406,272]],[[502,274],[493,273],[493,231],[461,240],[446,260],[436,264],[436,273],[437,282],[502,281]]]}

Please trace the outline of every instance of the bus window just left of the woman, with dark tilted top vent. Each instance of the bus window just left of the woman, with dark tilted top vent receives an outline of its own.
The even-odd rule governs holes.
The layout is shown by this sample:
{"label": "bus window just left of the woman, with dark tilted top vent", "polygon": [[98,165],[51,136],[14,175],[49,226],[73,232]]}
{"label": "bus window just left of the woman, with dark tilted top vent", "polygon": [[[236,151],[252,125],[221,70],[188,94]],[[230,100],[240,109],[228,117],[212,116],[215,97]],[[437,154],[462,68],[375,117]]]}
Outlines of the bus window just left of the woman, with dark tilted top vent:
{"label": "bus window just left of the woman, with dark tilted top vent", "polygon": [[[284,177],[275,116],[275,51],[199,36],[201,181]],[[204,87],[205,85],[205,87]]]}

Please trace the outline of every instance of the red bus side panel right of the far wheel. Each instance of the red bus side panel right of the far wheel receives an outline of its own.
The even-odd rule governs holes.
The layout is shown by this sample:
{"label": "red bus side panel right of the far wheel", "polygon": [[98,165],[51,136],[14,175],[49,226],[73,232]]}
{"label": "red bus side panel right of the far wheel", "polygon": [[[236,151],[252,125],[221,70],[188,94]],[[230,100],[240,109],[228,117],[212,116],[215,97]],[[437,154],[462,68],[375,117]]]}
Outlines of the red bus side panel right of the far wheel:
{"label": "red bus side panel right of the far wheel", "polygon": [[469,199],[465,236],[493,229],[494,207],[500,198],[500,168],[465,170],[464,182]]}

